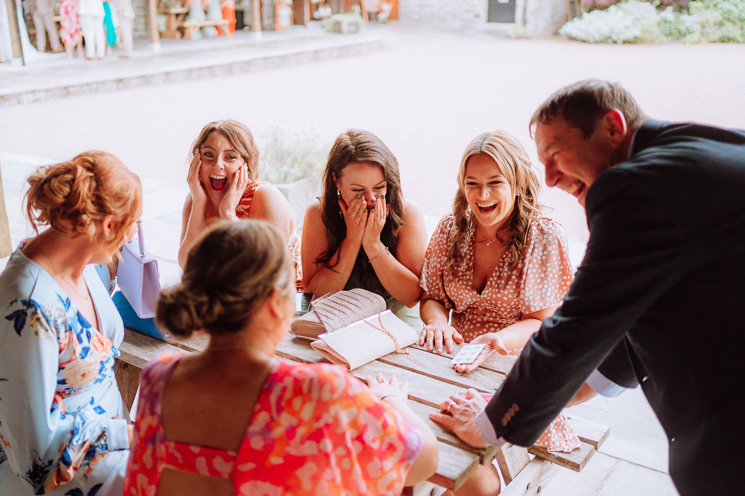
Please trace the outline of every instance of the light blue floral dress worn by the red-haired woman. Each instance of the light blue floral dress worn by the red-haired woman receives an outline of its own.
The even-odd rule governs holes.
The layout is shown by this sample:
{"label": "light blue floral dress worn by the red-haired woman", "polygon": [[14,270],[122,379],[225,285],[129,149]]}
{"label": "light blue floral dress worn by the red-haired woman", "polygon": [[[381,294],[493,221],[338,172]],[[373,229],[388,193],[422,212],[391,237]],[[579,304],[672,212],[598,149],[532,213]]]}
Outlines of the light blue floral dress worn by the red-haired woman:
{"label": "light blue floral dress worn by the red-haired woman", "polygon": [[0,495],[121,495],[129,456],[114,375],[124,326],[95,268],[101,329],[16,250],[0,274]]}

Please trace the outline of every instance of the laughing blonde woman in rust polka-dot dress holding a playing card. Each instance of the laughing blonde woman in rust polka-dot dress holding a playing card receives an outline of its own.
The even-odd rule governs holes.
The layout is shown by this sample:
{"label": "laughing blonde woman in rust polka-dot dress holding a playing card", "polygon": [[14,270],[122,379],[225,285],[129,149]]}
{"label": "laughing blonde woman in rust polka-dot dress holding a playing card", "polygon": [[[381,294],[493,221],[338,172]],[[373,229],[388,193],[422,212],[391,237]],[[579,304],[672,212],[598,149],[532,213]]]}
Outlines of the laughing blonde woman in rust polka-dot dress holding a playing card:
{"label": "laughing blonde woman in rust polka-dot dress holding a playing card", "polygon": [[[554,314],[573,279],[558,222],[542,217],[540,182],[530,158],[507,132],[486,132],[460,161],[453,213],[440,220],[422,268],[419,344],[441,353],[453,342],[486,345],[469,373],[492,352],[519,354]],[[498,339],[493,339],[494,337]],[[536,445],[571,451],[580,440],[562,415]],[[482,465],[457,494],[495,495],[499,476]]]}

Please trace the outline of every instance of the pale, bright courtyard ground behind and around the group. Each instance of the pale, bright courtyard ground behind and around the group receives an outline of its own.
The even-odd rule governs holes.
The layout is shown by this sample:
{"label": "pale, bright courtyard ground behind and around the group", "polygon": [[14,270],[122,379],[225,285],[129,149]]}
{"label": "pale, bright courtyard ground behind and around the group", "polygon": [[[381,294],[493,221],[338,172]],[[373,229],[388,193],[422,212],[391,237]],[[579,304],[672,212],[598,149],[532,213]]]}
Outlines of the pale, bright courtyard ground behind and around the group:
{"label": "pale, bright courtyard ground behind and around the group", "polygon": [[[216,68],[216,77],[195,74],[200,79],[104,92],[88,86],[86,94],[1,106],[0,164],[13,241],[28,233],[20,199],[31,167],[84,149],[105,149],[142,176],[148,246],[162,260],[164,283],[177,280],[188,148],[204,123],[227,117],[247,123],[260,145],[276,128],[315,135],[329,145],[348,127],[375,132],[399,158],[404,192],[422,206],[430,231],[449,210],[466,144],[481,132],[506,129],[535,158],[527,132],[530,114],[548,94],[575,80],[618,81],[659,119],[745,128],[741,45],[584,45],[398,25],[371,27],[366,36],[385,44],[339,59],[244,74]],[[209,45],[199,53],[180,52],[178,67],[203,67],[204,46]],[[177,67],[168,57],[148,60],[148,65],[161,63],[163,71]],[[115,77],[139,74],[136,61],[116,62],[110,62]],[[48,86],[64,83],[66,66],[57,65],[58,71],[42,71]],[[76,67],[85,83],[86,68]],[[2,69],[0,88],[8,74]],[[552,209],[549,216],[565,226],[571,258],[579,263],[587,237],[582,209],[561,191],[542,194]],[[573,410],[612,426],[600,451],[636,467],[629,472],[633,484],[626,494],[675,494],[664,475],[665,435],[639,390]],[[566,472],[562,486],[576,487],[583,475]]]}

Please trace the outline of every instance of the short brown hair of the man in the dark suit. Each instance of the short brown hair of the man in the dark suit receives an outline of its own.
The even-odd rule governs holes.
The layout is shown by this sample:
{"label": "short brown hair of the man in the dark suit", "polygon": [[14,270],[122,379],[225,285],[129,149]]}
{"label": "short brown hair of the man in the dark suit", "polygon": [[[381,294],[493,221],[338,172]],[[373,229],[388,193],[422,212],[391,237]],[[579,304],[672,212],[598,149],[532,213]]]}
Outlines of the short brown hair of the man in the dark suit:
{"label": "short brown hair of the man in the dark suit", "polygon": [[583,80],[565,86],[548,97],[530,117],[530,134],[537,123],[548,123],[562,117],[569,125],[580,129],[585,138],[595,132],[597,121],[612,109],[624,113],[631,129],[647,119],[634,97],[618,83],[603,80]]}

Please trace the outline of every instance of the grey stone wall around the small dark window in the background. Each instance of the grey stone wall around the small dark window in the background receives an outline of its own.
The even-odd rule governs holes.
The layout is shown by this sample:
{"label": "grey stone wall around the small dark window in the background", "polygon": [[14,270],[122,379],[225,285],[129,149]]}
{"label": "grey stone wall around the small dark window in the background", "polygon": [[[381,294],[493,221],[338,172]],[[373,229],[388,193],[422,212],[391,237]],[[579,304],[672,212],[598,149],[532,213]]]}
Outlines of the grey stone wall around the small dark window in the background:
{"label": "grey stone wall around the small dark window in the background", "polygon": [[517,0],[514,24],[486,22],[488,8],[489,0],[399,0],[399,20],[448,30],[509,32],[525,25],[533,36],[551,36],[566,22],[565,0]]}

